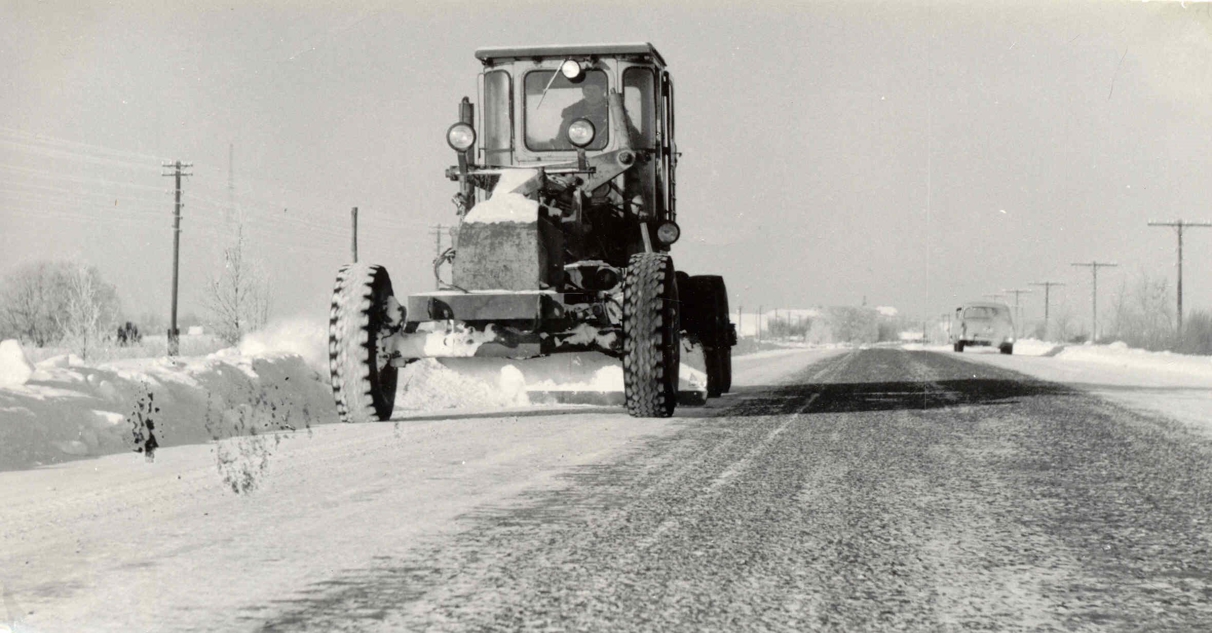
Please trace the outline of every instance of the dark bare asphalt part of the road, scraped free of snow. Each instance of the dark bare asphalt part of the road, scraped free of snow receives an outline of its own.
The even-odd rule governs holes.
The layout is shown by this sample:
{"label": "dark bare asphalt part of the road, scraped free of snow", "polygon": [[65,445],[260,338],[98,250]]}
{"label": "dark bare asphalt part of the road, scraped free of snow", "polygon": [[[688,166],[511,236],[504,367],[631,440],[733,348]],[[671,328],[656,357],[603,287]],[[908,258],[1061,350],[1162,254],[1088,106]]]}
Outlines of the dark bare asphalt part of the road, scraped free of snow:
{"label": "dark bare asphalt part of the road, scraped free of snow", "polygon": [[[1205,447],[943,354],[853,352],[797,382],[342,574],[262,631],[1195,631],[1210,615]],[[1111,525],[1156,560],[1094,551]]]}

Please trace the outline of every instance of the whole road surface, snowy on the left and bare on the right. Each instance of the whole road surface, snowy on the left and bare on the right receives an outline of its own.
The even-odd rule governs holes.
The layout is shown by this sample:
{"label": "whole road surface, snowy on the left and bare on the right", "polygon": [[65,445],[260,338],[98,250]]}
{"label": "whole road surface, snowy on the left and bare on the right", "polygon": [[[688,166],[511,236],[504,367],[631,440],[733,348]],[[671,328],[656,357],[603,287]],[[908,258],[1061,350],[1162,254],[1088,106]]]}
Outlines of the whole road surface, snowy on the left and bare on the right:
{"label": "whole road surface, snowy on the left and bare on the right", "polygon": [[222,473],[212,446],[0,473],[5,603],[45,633],[1208,629],[1212,444],[990,363],[767,353],[665,421],[435,415],[228,440]]}

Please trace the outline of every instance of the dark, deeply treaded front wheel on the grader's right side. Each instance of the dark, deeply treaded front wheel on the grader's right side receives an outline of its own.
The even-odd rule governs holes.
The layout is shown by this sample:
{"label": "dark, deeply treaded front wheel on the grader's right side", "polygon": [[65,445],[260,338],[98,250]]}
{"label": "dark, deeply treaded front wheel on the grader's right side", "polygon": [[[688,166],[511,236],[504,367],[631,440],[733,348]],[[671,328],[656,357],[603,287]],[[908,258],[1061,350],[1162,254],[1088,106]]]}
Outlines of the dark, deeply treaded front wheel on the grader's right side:
{"label": "dark, deeply treaded front wheel on the grader's right side", "polygon": [[623,395],[633,417],[669,417],[678,406],[680,325],[673,260],[631,256],[623,278]]}

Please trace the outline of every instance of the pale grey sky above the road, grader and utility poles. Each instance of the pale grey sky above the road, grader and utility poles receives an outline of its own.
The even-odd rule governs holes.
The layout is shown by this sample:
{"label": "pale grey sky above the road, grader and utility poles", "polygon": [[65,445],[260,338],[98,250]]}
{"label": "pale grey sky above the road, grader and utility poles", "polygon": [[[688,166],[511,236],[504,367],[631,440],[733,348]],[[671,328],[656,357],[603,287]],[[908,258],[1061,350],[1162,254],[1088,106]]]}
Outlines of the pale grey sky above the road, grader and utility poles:
{"label": "pale grey sky above the road, grader and utility poles", "polygon": [[[1030,281],[1080,316],[1142,274],[1150,219],[1212,219],[1212,15],[1187,2],[48,2],[0,0],[0,274],[75,257],[166,314],[171,178],[182,312],[234,198],[280,316],[327,314],[348,258],[429,290],[450,224],[444,132],[480,46],[651,41],[674,75],[674,261],[732,307],[934,315]],[[65,7],[64,5],[70,5]],[[252,5],[250,8],[245,5]],[[321,8],[322,6],[322,8]],[[1212,229],[1185,304],[1212,309]],[[1035,289],[1039,291],[1039,289]],[[1042,310],[1023,298],[1028,315]]]}

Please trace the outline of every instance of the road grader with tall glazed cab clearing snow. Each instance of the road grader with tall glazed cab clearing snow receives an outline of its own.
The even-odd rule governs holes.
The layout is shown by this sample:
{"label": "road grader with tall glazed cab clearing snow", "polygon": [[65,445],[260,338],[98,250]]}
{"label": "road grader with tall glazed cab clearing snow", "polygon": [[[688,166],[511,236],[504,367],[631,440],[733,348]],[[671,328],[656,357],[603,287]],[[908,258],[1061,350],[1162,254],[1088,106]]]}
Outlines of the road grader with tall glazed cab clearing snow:
{"label": "road grader with tall glazed cab clearing snow", "polygon": [[[719,275],[676,270],[674,85],[651,44],[492,47],[480,109],[446,130],[458,227],[439,290],[398,297],[382,266],[337,274],[332,390],[347,422],[388,420],[399,369],[423,358],[601,352],[636,417],[678,405],[682,340],[707,395],[732,382],[736,329]],[[444,270],[448,275],[442,279]]]}

